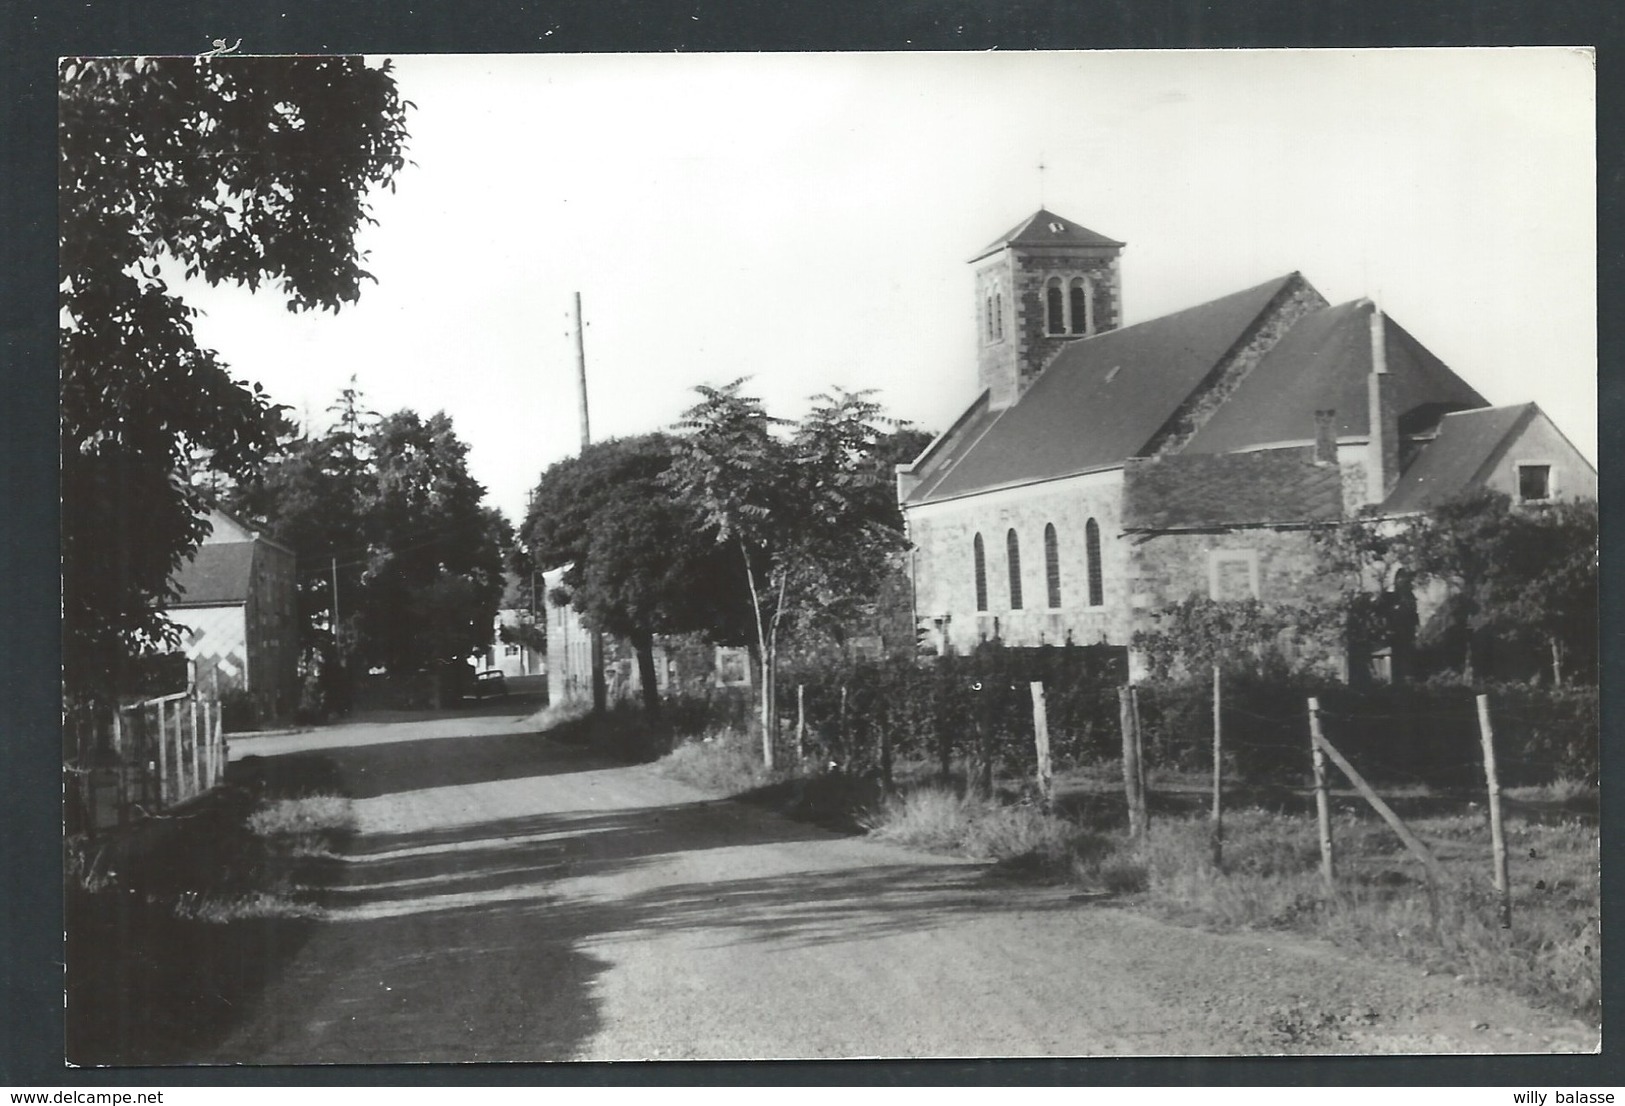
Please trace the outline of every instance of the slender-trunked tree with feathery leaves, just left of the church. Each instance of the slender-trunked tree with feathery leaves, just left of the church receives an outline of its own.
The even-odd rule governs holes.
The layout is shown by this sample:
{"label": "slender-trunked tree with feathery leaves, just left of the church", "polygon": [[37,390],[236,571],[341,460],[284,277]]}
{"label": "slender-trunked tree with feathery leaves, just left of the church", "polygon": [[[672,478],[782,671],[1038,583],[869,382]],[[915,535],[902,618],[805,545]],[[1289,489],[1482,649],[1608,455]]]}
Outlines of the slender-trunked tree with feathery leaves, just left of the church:
{"label": "slender-trunked tree with feathery leaves, just left of the church", "polygon": [[788,439],[744,380],[700,385],[684,413],[668,482],[713,539],[736,552],[751,596],[762,671],[762,758],[777,736],[777,656],[798,619],[838,617],[873,594],[887,557],[905,546],[890,471],[881,461],[887,419],[869,391],[812,398]]}

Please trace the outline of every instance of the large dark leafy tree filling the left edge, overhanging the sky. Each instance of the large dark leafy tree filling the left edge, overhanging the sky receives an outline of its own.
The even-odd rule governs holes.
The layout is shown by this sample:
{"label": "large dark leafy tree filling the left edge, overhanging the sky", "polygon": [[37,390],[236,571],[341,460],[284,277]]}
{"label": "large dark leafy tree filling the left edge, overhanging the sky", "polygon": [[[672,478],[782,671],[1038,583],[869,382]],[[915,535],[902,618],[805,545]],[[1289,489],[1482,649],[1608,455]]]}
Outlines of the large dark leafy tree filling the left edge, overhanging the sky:
{"label": "large dark leafy tree filling the left edge, overhanging the sky", "polygon": [[286,429],[202,349],[164,268],[338,310],[367,273],[369,190],[403,166],[388,65],[344,57],[73,58],[58,81],[63,669],[109,693],[172,637],[206,533],[203,458],[240,476]]}

